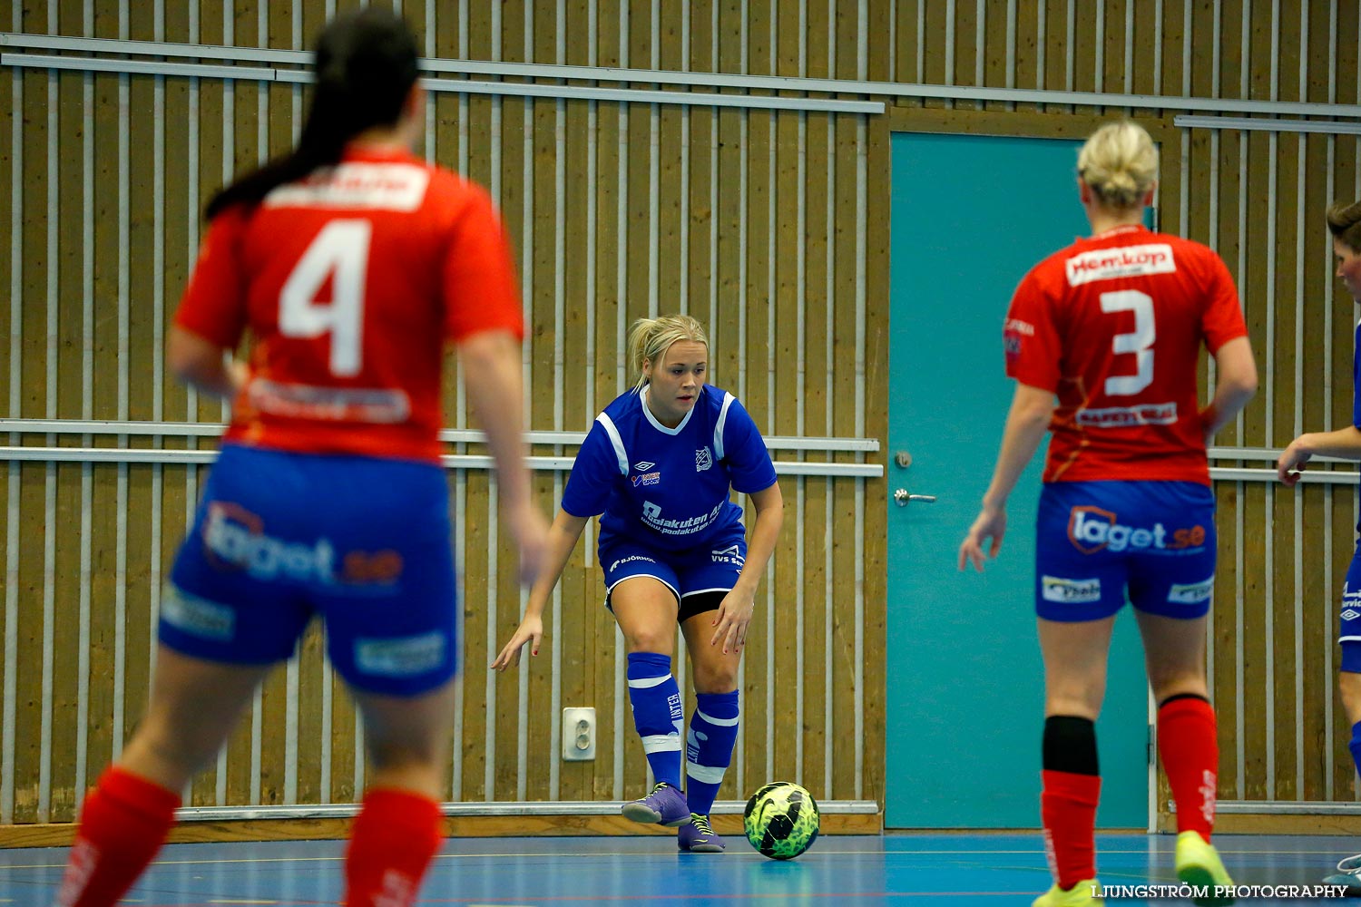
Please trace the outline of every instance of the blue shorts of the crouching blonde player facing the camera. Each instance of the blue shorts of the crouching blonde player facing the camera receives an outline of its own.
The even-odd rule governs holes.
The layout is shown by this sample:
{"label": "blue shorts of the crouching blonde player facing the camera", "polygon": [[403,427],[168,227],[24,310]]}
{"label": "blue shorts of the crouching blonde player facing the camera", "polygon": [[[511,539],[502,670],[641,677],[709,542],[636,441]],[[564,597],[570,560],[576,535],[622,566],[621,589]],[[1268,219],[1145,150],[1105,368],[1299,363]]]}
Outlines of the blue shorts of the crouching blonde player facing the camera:
{"label": "blue shorts of the crouching blonde player facing the camera", "polygon": [[705,596],[712,598],[713,593],[725,594],[738,583],[738,575],[747,563],[747,536],[742,524],[736,524],[708,544],[676,551],[661,551],[614,536],[600,540],[597,555],[604,570],[606,608],[612,611],[610,594],[621,582],[632,577],[652,577],[676,597],[678,617],[685,620],[701,611],[712,611],[704,606],[687,609],[687,598],[698,602]]}

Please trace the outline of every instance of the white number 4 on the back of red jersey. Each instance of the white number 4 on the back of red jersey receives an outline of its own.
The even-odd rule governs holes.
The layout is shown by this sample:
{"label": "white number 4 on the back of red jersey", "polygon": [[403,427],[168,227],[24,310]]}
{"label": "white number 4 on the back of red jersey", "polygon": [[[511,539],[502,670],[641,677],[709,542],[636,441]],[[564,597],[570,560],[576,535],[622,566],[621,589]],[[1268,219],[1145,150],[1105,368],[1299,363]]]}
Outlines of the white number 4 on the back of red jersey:
{"label": "white number 4 on the back of red jersey", "polygon": [[[279,292],[279,333],[320,337],[331,332],[331,374],[359,374],[363,344],[363,284],[369,271],[367,220],[332,220],[312,241]],[[331,279],[331,302],[316,303]]]}

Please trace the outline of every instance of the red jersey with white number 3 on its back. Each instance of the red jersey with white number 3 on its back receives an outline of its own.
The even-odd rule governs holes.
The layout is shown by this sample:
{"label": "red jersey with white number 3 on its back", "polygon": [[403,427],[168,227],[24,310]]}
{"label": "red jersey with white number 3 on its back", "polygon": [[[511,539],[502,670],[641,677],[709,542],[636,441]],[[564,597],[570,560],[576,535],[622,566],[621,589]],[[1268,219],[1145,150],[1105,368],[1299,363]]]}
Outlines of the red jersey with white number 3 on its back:
{"label": "red jersey with white number 3 on its back", "polygon": [[1003,329],[1007,375],[1059,397],[1045,481],[1210,484],[1196,373],[1248,333],[1209,247],[1117,227],[1025,276]]}

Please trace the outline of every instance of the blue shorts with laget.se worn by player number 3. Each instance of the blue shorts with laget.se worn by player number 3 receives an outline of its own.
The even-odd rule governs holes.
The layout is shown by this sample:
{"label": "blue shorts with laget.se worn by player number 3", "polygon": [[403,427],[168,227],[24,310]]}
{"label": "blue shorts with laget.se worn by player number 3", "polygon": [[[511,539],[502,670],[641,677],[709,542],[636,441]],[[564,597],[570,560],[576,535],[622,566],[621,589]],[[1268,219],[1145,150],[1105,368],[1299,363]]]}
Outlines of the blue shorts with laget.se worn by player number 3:
{"label": "blue shorts with laget.se worn by player number 3", "polygon": [[1055,481],[1040,494],[1034,609],[1202,617],[1214,594],[1214,492],[1194,481]]}

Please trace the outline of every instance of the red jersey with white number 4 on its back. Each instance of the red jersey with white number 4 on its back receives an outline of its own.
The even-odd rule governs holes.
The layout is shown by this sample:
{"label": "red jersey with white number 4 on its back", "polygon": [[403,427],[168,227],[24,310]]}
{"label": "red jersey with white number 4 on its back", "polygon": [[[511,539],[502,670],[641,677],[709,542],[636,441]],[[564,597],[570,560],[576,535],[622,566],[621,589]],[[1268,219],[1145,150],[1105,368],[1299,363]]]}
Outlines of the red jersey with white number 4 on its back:
{"label": "red jersey with white number 4 on its back", "polygon": [[174,321],[227,349],[255,336],[226,441],[427,461],[445,341],[524,336],[487,193],[372,150],[214,218]]}

